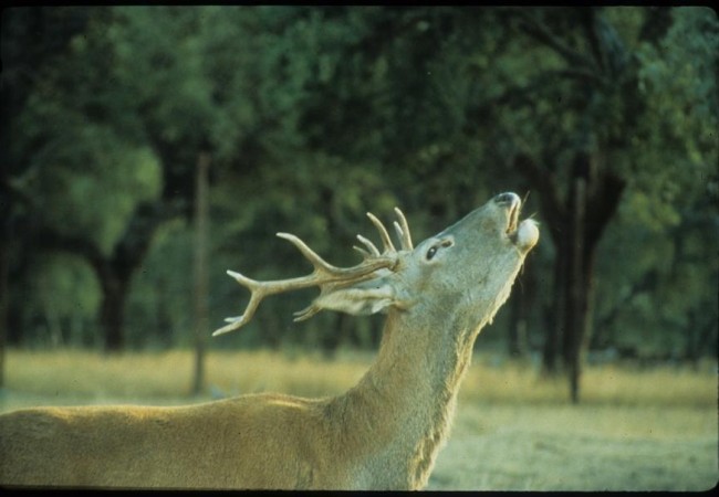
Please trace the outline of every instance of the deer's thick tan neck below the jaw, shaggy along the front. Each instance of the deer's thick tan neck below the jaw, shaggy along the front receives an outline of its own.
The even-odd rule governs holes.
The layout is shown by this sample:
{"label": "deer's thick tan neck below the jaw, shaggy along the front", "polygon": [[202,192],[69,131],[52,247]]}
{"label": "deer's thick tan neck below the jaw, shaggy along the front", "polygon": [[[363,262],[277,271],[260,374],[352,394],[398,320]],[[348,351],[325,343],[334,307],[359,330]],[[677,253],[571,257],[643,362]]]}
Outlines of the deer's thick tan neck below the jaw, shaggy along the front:
{"label": "deer's thick tan neck below the jaw, shaggy along the front", "polygon": [[[362,451],[397,485],[421,488],[449,433],[457,392],[480,326],[392,311],[375,363],[345,395],[347,433],[365,433]],[[384,457],[383,457],[384,456]],[[376,478],[376,475],[373,475]]]}

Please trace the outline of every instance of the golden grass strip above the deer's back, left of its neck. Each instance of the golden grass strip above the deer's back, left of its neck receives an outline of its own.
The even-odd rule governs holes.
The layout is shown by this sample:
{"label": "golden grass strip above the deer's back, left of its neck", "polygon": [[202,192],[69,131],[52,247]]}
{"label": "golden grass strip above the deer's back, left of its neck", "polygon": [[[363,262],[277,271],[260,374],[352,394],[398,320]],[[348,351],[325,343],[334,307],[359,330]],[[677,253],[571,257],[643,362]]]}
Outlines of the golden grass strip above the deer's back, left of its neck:
{"label": "golden grass strip above the deer's back, left of its neck", "polygon": [[[263,391],[336,394],[356,383],[369,361],[327,361],[319,355],[290,357],[270,351],[210,352],[202,398]],[[6,388],[13,393],[72,402],[165,402],[188,400],[194,356],[189,350],[116,356],[82,350],[9,350],[6,368]]]}

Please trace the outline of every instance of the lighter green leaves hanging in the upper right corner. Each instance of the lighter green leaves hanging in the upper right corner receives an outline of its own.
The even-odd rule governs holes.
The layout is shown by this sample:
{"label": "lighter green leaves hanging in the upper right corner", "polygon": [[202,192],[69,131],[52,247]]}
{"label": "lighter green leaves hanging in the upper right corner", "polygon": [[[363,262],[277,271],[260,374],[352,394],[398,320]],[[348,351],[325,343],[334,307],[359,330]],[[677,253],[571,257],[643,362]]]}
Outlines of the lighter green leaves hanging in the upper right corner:
{"label": "lighter green leaves hanging in the upper right corner", "polygon": [[673,18],[663,43],[643,43],[636,53],[646,115],[627,165],[632,181],[665,210],[707,193],[719,160],[719,20],[705,8],[675,9]]}

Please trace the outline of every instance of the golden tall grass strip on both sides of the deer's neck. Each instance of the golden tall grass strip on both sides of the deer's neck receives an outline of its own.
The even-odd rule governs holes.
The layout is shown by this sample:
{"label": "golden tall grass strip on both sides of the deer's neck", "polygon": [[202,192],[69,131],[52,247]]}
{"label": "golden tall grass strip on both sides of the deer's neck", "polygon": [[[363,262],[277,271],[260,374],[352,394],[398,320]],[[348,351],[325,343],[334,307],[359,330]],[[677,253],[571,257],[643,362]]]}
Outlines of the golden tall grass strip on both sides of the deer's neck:
{"label": "golden tall grass strip on both sides of the deer's neck", "polygon": [[[275,391],[304,396],[340,393],[357,382],[373,353],[344,353],[329,361],[319,355],[290,357],[271,351],[211,351],[207,359],[208,396]],[[188,395],[192,352],[103,356],[82,350],[7,353],[7,389],[34,395],[103,399],[173,400]],[[566,403],[564,379],[541,378],[523,362],[490,366],[477,356],[460,391],[460,402],[510,404]],[[588,405],[717,405],[716,363],[699,371],[661,367],[587,367],[582,403]]]}

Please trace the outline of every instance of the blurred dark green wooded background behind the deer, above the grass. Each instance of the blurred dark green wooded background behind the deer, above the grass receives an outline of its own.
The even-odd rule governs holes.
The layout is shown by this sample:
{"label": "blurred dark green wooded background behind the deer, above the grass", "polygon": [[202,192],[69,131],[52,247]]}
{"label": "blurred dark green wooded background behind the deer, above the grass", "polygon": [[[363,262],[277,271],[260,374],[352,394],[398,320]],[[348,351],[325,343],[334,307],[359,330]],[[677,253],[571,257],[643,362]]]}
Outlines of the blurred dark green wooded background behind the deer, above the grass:
{"label": "blurred dark green wooded background behind the deer, above the grass", "polygon": [[573,403],[596,364],[716,387],[718,53],[690,7],[3,9],[0,384],[32,351],[185,351],[195,392],[212,351],[364,357],[382,316],[292,322],[312,292],[210,340],[226,269],[309,273],[279,231],[353,265],[366,211],[418,241],[515,191],[542,239],[488,364]]}

